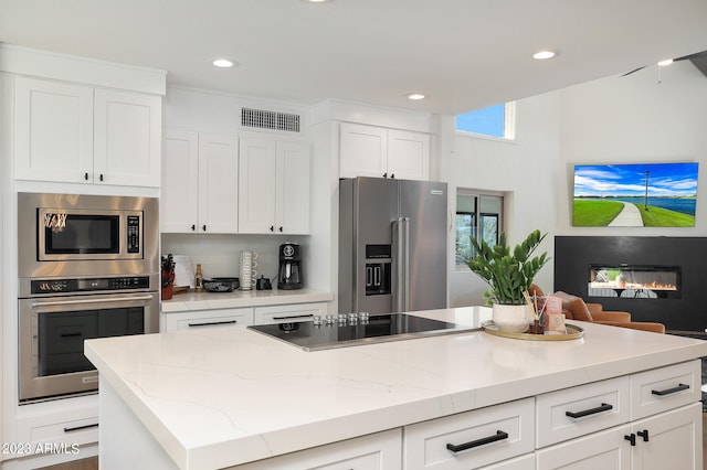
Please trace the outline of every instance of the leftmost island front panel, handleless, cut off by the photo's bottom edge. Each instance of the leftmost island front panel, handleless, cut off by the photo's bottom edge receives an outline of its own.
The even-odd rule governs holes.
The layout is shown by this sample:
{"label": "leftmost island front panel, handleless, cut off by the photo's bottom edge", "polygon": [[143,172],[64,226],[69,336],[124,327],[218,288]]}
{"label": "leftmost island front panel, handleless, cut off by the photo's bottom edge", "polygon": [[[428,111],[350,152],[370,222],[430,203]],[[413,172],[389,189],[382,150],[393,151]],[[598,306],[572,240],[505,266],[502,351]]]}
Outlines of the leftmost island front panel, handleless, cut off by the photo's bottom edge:
{"label": "leftmost island front panel, handleless, cut off by the photo's bottom edge", "polygon": [[390,429],[236,467],[242,470],[393,470],[402,468],[401,429]]}

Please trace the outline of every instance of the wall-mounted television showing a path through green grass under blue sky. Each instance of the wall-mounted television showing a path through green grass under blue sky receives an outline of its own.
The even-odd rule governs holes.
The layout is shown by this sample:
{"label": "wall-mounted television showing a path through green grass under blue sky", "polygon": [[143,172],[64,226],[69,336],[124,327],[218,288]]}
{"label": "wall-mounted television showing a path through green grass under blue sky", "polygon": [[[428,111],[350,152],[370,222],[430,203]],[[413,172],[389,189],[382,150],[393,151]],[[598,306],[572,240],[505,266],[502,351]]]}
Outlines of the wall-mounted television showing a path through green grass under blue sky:
{"label": "wall-mounted television showing a path through green grass under blue sky", "polygon": [[572,225],[694,227],[698,165],[577,164]]}

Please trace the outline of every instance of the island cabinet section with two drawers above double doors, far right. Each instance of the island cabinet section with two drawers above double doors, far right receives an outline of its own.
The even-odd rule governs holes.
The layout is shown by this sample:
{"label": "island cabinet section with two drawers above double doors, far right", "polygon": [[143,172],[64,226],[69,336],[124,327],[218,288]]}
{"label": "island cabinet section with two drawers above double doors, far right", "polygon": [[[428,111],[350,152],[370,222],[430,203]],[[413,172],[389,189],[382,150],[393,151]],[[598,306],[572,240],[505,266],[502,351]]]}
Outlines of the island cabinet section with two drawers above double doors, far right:
{"label": "island cabinet section with two drawers above double doors, far right", "polygon": [[700,376],[693,361],[538,396],[538,470],[701,469]]}

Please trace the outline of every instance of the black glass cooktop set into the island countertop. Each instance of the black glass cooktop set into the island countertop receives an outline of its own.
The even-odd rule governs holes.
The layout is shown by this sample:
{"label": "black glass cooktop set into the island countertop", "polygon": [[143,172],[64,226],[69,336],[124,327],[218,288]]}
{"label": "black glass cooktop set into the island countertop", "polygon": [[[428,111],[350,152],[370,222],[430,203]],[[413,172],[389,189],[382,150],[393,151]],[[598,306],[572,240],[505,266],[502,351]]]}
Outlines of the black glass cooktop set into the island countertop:
{"label": "black glass cooktop set into the island countertop", "polygon": [[315,321],[279,324],[257,324],[251,330],[294,344],[305,351],[409,340],[431,335],[475,331],[475,327],[461,327],[440,320],[409,313],[327,316]]}

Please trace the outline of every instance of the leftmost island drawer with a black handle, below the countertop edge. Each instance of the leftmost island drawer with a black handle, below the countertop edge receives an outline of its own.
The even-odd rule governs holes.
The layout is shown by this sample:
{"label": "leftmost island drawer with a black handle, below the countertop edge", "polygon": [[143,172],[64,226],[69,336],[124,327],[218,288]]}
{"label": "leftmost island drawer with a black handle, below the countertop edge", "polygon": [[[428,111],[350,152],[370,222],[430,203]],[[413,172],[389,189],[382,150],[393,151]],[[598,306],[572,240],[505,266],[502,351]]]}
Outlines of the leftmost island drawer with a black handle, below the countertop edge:
{"label": "leftmost island drawer with a black handle, below the countertop edge", "polygon": [[405,469],[476,469],[535,449],[534,399],[405,426]]}

